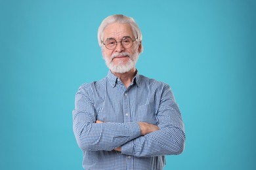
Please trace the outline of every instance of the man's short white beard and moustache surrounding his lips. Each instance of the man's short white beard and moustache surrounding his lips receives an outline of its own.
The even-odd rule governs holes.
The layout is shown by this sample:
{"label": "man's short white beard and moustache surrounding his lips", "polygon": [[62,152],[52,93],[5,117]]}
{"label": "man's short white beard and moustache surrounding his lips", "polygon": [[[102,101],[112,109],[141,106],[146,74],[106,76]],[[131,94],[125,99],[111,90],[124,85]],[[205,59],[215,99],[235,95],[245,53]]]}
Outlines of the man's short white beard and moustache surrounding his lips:
{"label": "man's short white beard and moustache surrounding his lips", "polygon": [[[127,61],[127,63],[123,63],[123,61],[119,61],[119,63],[117,63],[117,65],[115,65],[115,63],[113,62],[113,58],[116,56],[128,56],[129,57],[129,61]],[[135,52],[135,54],[133,54],[131,56],[131,54],[127,53],[127,52],[121,52],[121,53],[115,53],[111,56],[111,59],[109,58],[104,58],[107,67],[114,73],[127,73],[128,71],[130,71],[131,69],[135,68],[135,65],[137,63],[137,60],[139,58],[139,52]]]}

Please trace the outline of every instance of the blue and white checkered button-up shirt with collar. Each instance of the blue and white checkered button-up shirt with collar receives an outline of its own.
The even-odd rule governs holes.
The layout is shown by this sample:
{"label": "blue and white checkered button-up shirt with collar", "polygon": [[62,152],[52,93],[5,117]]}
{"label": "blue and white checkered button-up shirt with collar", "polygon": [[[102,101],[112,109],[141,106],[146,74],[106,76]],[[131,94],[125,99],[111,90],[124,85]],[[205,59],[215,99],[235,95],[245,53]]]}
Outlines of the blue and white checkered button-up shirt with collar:
{"label": "blue and white checkered button-up shirt with collar", "polygon": [[[160,130],[141,136],[138,122]],[[165,155],[184,149],[184,126],[171,88],[139,73],[128,88],[111,71],[83,84],[75,94],[73,124],[84,169],[163,169]],[[114,150],[119,146],[121,152]]]}

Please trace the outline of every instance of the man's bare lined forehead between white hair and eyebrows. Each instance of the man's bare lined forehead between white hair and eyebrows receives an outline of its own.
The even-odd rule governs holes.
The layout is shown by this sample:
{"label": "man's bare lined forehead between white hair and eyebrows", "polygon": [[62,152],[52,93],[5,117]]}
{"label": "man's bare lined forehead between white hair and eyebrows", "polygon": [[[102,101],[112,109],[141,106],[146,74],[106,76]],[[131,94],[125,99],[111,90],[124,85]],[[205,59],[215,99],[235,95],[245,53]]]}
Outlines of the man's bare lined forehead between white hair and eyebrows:
{"label": "man's bare lined forehead between white hair and eyebrows", "polygon": [[104,29],[103,40],[108,38],[122,39],[123,37],[134,37],[133,30],[129,24],[113,23]]}

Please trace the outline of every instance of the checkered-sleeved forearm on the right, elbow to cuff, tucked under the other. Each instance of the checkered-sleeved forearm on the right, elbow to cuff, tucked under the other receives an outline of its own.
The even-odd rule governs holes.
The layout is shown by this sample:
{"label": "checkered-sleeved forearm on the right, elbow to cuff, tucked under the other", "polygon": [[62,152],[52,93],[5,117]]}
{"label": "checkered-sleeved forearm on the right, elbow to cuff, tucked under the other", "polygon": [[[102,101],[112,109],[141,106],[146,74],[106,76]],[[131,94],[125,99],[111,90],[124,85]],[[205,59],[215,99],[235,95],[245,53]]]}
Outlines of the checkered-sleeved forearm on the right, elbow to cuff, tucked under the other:
{"label": "checkered-sleeved forearm on the right, elbow to cuff, tucked under the other", "polygon": [[182,129],[165,128],[123,144],[121,152],[137,157],[181,154],[184,150],[184,141]]}

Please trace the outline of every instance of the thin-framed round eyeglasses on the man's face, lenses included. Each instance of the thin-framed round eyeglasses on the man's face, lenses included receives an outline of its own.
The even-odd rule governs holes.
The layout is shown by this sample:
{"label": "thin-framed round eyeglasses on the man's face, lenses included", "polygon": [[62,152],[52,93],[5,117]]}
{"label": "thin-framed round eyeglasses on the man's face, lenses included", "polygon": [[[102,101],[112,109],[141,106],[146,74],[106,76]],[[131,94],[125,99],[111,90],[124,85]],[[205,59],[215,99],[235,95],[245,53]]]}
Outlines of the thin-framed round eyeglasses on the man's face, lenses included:
{"label": "thin-framed round eyeglasses on the man's face, lenses included", "polygon": [[[138,39],[138,38],[137,38]],[[117,46],[117,42],[121,42],[123,48],[131,48],[133,46],[133,41],[137,39],[131,39],[131,37],[123,37],[121,41],[116,41],[113,38],[106,39],[105,43],[103,43],[108,50],[113,50]]]}

